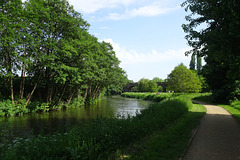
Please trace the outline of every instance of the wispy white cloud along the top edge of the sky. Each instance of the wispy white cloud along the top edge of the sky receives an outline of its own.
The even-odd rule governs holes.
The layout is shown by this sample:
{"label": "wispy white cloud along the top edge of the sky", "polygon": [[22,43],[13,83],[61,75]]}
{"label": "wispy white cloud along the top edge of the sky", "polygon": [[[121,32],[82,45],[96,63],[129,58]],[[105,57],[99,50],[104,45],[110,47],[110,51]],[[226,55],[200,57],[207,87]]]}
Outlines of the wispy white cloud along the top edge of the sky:
{"label": "wispy white cloud along the top edge of the sky", "polygon": [[[119,9],[104,19],[121,20],[136,16],[157,16],[180,8],[177,0],[69,0],[77,11],[91,14],[101,9]],[[106,11],[106,10],[105,10]]]}

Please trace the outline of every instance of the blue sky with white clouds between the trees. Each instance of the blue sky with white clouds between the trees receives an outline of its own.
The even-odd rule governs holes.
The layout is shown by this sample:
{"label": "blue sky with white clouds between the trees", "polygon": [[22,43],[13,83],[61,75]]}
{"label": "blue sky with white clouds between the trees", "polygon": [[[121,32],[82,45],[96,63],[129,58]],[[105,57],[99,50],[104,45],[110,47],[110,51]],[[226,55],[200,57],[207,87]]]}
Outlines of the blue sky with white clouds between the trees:
{"label": "blue sky with white clouds between the trees", "polygon": [[183,0],[69,0],[90,23],[90,34],[110,42],[128,78],[167,78],[190,50],[181,25]]}

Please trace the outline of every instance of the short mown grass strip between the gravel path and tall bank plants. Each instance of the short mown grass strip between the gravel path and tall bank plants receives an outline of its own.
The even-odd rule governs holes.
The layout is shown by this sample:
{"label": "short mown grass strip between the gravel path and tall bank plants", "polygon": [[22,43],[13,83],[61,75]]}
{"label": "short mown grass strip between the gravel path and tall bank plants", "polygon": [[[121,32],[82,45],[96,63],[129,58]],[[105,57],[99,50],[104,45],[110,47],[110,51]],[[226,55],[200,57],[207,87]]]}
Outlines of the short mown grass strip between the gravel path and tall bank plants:
{"label": "short mown grass strip between the gravel path and tall bank plants", "polygon": [[194,104],[188,113],[164,130],[129,147],[128,152],[125,151],[125,157],[132,160],[179,159],[205,112],[205,107]]}

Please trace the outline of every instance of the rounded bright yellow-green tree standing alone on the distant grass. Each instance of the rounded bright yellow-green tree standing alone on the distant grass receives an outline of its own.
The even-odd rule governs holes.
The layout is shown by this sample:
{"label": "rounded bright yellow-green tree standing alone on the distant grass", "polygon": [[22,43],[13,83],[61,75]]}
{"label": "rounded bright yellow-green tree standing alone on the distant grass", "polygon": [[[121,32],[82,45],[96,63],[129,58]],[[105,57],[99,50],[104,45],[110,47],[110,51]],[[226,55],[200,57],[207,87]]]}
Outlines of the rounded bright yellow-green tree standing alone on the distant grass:
{"label": "rounded bright yellow-green tree standing alone on the distant grass", "polygon": [[198,93],[202,88],[196,73],[183,64],[175,67],[168,75],[167,85],[169,90],[177,93]]}

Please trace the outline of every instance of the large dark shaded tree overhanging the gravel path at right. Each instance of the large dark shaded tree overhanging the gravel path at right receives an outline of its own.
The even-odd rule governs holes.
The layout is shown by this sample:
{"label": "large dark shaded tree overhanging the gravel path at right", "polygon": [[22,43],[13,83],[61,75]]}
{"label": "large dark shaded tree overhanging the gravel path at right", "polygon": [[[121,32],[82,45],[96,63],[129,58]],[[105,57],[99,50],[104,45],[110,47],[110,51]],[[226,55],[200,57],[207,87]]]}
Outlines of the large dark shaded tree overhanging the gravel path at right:
{"label": "large dark shaded tree overhanging the gravel path at right", "polygon": [[[186,0],[182,6],[191,12],[186,16],[189,23],[183,25],[193,48],[186,54],[197,53],[205,58],[203,74],[215,100],[232,99],[240,80],[240,2]],[[202,24],[206,27],[199,30]]]}

